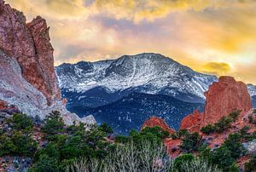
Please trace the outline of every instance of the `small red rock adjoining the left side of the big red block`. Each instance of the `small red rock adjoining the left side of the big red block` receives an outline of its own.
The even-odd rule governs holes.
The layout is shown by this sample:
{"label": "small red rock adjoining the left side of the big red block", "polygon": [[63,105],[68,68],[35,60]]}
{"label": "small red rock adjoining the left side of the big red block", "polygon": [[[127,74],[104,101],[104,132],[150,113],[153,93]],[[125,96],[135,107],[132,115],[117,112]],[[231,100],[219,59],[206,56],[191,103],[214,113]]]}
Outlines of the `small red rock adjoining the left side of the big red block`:
{"label": "small red rock adjoining the left side of the big red block", "polygon": [[188,129],[191,133],[199,132],[201,126],[201,118],[202,114],[198,110],[195,110],[192,114],[189,114],[183,118],[180,124],[180,129]]}

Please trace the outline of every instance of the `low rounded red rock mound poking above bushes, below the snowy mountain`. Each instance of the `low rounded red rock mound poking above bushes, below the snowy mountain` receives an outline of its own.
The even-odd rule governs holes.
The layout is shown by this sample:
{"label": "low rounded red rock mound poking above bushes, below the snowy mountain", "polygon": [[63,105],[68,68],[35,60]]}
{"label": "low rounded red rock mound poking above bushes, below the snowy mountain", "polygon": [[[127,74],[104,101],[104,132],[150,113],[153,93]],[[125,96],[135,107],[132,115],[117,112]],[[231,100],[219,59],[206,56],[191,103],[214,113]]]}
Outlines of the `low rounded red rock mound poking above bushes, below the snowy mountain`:
{"label": "low rounded red rock mound poking above bushes, below the snowy mountain", "polygon": [[159,126],[161,129],[165,129],[166,131],[170,132],[170,133],[175,133],[174,129],[171,129],[166,122],[164,121],[164,119],[162,118],[158,118],[158,117],[151,117],[149,118],[147,121],[145,121],[143,123],[143,127],[142,129],[145,129],[146,127],[155,127],[155,126]]}

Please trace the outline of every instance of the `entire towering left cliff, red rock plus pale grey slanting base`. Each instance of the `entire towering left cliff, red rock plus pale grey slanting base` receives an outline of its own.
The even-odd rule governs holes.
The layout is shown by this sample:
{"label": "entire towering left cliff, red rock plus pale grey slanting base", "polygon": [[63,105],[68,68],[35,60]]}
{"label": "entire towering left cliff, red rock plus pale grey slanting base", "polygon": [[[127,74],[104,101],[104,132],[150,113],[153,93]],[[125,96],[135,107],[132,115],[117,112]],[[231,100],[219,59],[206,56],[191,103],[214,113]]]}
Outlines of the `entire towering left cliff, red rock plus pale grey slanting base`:
{"label": "entire towering left cliff, red rock plus pale grey slanting base", "polygon": [[0,0],[0,101],[1,108],[44,118],[62,112],[66,123],[81,121],[67,111],[57,83],[54,49],[46,21],[37,17],[26,23],[20,11]]}

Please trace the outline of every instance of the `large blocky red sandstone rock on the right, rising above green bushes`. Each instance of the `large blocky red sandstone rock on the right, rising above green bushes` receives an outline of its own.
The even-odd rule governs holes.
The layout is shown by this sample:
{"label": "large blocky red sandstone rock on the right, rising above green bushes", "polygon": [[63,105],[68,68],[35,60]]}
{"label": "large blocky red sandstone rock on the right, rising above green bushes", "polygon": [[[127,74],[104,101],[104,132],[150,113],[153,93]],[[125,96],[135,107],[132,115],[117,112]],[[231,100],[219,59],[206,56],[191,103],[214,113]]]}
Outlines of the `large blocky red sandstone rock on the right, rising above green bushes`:
{"label": "large blocky red sandstone rock on the right, rising above green bushes", "polygon": [[205,95],[206,106],[201,127],[218,122],[236,109],[248,112],[252,108],[247,85],[236,82],[233,77],[219,77],[218,82],[212,83]]}

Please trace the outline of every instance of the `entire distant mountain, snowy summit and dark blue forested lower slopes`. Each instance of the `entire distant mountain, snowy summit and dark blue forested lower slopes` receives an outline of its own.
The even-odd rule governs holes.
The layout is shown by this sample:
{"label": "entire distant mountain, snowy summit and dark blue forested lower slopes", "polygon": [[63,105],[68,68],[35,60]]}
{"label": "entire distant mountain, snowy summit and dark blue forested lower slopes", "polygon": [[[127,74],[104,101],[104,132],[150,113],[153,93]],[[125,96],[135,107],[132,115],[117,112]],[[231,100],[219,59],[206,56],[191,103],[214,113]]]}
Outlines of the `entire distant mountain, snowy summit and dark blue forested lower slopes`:
{"label": "entire distant mountain, snowy summit and dark blue forested lower slopes", "polygon": [[[218,77],[195,72],[161,54],[124,55],[55,67],[67,109],[95,116],[121,134],[158,116],[177,129],[181,119],[203,109],[204,92]],[[248,85],[255,103],[256,89]]]}

